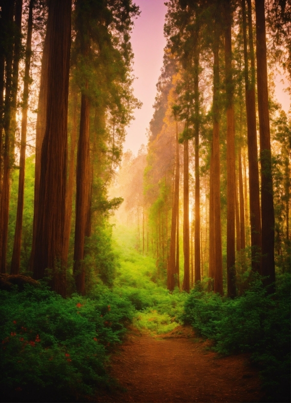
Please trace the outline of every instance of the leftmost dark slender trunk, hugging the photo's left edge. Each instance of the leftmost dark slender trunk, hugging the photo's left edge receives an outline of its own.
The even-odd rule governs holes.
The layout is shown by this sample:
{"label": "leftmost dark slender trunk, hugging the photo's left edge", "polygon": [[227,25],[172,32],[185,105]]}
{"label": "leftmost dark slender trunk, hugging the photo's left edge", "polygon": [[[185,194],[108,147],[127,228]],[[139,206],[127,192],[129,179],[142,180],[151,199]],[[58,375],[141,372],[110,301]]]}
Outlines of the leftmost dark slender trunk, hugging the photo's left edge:
{"label": "leftmost dark slender trunk, hugging the photo's left edge", "polygon": [[[7,21],[7,26],[13,25],[14,1],[4,2],[2,5],[2,17]],[[0,272],[6,272],[6,250],[8,237],[8,218],[9,218],[9,194],[10,194],[10,120],[11,120],[11,92],[12,92],[12,63],[13,47],[8,49],[6,54],[5,66],[5,101],[4,101],[4,149],[3,149],[3,184],[0,207]]]}

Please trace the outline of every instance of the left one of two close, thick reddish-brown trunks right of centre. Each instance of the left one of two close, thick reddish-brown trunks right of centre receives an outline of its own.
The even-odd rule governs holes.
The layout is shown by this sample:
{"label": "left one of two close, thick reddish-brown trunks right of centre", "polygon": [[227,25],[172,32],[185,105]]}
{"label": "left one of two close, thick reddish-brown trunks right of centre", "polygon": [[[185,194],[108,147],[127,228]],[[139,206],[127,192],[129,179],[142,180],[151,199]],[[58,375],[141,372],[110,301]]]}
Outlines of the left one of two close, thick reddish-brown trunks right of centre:
{"label": "left one of two close, thick reddish-brown trunks right of centre", "polygon": [[[213,138],[212,138],[212,186],[213,186],[213,223],[214,223],[214,292],[223,295],[222,279],[222,240],[220,207],[220,150],[219,150],[219,32],[215,23],[213,43]],[[210,181],[211,186],[211,181]],[[210,191],[211,193],[211,191]],[[211,211],[211,208],[209,209]],[[209,213],[211,219],[212,213]],[[210,248],[210,245],[209,245]]]}

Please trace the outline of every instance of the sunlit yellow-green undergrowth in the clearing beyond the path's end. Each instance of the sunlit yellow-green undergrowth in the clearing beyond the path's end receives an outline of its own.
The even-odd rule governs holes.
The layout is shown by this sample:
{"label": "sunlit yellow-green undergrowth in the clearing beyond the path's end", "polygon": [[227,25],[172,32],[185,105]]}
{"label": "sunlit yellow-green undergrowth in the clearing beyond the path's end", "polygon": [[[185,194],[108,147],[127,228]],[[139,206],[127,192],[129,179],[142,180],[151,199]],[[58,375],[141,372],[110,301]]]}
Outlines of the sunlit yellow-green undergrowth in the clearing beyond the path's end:
{"label": "sunlit yellow-green undergrowth in the clearing beyond the path's end", "polygon": [[117,226],[113,233],[118,238],[116,250],[120,257],[113,292],[131,302],[137,310],[134,325],[151,333],[166,333],[181,324],[186,293],[176,289],[172,294],[159,279],[153,258],[133,249],[134,232]]}

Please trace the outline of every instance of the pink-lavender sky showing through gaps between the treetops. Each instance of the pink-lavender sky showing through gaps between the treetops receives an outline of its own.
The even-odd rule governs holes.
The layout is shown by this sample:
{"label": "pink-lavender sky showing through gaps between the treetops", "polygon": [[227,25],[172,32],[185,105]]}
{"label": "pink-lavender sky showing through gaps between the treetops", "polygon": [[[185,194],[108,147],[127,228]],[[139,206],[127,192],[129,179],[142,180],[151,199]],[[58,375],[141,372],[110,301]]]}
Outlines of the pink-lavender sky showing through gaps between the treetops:
{"label": "pink-lavender sky showing through gaps between the treetops", "polygon": [[[142,144],[147,144],[146,129],[153,116],[153,107],[156,96],[156,83],[163,66],[164,22],[166,14],[165,0],[135,0],[140,6],[141,15],[135,20],[135,27],[131,35],[131,44],[134,53],[134,76],[138,79],[133,82],[134,95],[143,102],[141,109],[134,112],[135,120],[126,128],[124,150],[130,149],[137,155]],[[288,113],[290,96],[284,92],[287,81],[283,84],[282,77],[275,78],[275,96]]]}

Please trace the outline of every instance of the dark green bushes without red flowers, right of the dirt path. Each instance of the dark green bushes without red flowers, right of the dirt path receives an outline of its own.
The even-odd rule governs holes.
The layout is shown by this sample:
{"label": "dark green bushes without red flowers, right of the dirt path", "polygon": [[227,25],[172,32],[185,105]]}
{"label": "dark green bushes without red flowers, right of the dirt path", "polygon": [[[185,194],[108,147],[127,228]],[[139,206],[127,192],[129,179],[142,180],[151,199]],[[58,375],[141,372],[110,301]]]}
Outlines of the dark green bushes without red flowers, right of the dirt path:
{"label": "dark green bushes without red flowers, right of the dirt path", "polygon": [[220,353],[251,352],[269,401],[289,402],[290,274],[278,276],[272,295],[260,279],[233,300],[196,287],[185,303],[183,320],[213,340]]}

